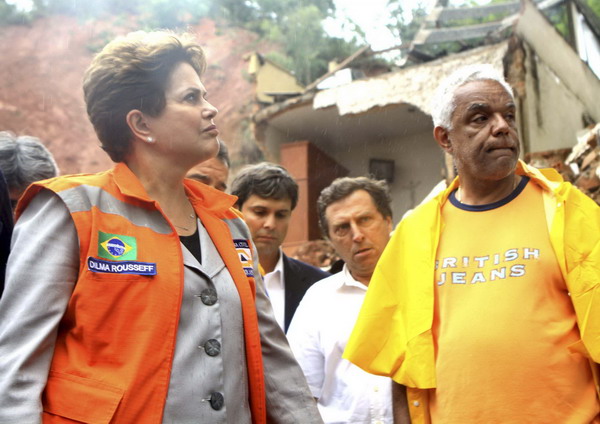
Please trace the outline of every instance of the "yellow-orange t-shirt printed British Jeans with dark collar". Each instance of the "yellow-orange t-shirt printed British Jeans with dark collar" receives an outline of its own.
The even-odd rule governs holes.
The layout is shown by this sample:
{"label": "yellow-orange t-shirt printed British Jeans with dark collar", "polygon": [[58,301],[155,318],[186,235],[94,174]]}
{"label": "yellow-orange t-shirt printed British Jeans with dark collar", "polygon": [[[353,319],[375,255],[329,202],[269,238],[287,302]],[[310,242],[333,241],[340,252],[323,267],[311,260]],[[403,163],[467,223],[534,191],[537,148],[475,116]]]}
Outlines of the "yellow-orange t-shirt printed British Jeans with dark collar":
{"label": "yellow-orange t-shirt printed British Jeans with dark collar", "polygon": [[442,210],[432,422],[590,423],[599,406],[541,190],[523,179],[492,205]]}

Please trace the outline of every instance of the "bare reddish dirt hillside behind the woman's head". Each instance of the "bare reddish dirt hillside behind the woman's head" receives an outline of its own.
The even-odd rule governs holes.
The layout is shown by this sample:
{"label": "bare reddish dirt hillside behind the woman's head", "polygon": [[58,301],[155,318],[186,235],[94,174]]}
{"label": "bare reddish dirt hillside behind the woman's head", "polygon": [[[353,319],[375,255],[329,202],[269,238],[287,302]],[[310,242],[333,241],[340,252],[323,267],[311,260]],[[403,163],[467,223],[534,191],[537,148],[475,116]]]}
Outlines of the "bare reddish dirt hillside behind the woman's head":
{"label": "bare reddish dirt hillside behind the woman's head", "polygon": [[[95,51],[135,29],[133,20],[123,18],[83,22],[65,16],[0,28],[0,130],[39,137],[63,174],[112,166],[87,118],[81,82]],[[219,109],[221,138],[235,155],[254,92],[244,56],[255,50],[266,53],[273,46],[258,43],[248,31],[219,28],[211,20],[190,30],[205,49],[209,66],[203,82]]]}

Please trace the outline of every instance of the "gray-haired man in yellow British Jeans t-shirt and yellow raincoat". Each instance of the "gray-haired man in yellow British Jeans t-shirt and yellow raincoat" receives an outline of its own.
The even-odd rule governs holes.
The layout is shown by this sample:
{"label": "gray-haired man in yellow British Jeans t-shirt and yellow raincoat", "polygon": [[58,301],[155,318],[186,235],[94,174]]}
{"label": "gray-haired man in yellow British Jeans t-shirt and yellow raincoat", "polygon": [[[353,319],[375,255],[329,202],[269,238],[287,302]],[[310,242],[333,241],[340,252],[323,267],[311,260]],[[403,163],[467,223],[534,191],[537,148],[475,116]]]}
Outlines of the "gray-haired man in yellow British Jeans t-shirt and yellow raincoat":
{"label": "gray-haired man in yellow British Jeans t-shirt and yellow raincoat", "polygon": [[600,208],[518,160],[490,65],[433,105],[458,178],[394,232],[344,356],[394,379],[396,422],[600,423]]}

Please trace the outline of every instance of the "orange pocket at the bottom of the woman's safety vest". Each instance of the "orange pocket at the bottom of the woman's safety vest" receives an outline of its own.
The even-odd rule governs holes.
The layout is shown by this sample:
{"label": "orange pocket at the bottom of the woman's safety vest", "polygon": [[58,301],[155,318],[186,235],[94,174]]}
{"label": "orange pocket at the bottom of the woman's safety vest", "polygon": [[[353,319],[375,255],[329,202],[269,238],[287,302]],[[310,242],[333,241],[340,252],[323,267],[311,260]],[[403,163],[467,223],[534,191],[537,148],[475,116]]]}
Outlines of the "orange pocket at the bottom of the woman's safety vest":
{"label": "orange pocket at the bottom of the woman's safety vest", "polygon": [[[50,371],[42,402],[45,413],[82,423],[108,424],[123,393],[123,389],[101,381]],[[44,422],[53,422],[46,418],[44,414]]]}

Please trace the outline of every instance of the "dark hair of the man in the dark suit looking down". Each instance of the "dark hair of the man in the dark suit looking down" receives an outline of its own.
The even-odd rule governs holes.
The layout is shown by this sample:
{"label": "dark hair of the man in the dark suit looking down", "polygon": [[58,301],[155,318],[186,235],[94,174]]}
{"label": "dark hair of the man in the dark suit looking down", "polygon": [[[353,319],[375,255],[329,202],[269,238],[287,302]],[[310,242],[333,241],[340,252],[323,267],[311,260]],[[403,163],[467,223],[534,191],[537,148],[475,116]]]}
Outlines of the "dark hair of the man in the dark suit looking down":
{"label": "dark hair of the man in the dark suit looking down", "polygon": [[265,199],[288,198],[293,210],[298,203],[298,184],[283,166],[261,162],[242,168],[231,183],[231,194],[238,197],[238,209],[256,194]]}

